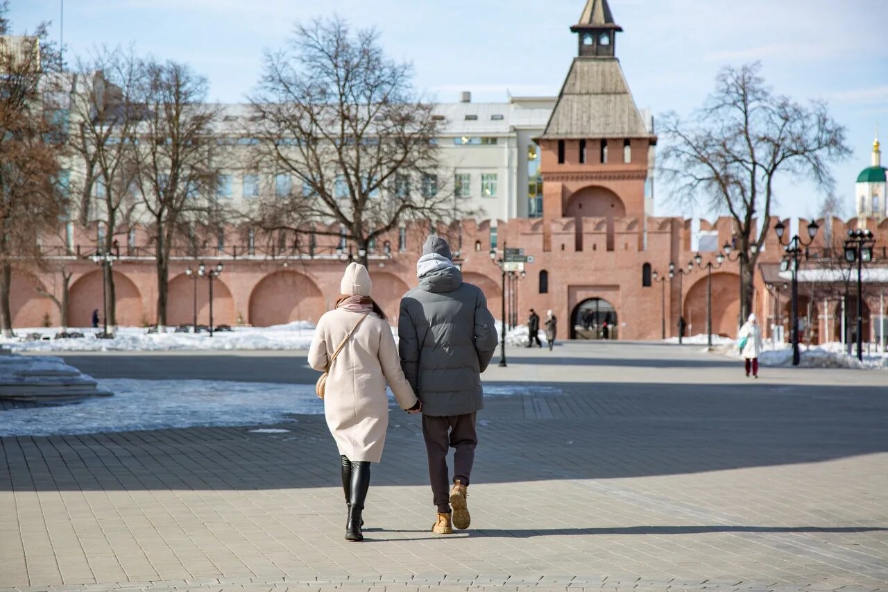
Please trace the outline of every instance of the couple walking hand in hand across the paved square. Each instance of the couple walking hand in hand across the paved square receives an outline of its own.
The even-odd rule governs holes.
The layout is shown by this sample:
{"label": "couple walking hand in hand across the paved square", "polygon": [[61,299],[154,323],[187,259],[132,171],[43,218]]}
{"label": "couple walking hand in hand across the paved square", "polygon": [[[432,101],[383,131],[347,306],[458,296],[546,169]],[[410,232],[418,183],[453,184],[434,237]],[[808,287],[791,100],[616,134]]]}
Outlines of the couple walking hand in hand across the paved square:
{"label": "couple walking hand in hand across the paved square", "polygon": [[[367,268],[350,263],[336,307],[318,322],[308,363],[327,372],[319,395],[339,449],[348,518],[346,540],[363,540],[361,518],[370,463],[379,462],[388,427],[386,383],[402,409],[422,413],[437,518],[432,532],[469,527],[466,489],[472,473],[480,374],[496,349],[484,293],[463,281],[447,241],[429,236],[416,262],[418,287],[400,301],[399,344],[373,300]],[[456,450],[451,481],[448,448]]]}

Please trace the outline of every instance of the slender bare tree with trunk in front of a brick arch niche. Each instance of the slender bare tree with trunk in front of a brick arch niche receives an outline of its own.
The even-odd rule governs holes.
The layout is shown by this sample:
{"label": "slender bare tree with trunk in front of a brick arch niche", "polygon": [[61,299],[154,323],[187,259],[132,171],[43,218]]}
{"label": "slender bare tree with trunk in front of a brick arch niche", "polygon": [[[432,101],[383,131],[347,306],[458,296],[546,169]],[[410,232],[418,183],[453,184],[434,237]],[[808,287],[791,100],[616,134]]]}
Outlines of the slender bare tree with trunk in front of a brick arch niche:
{"label": "slender bare tree with trunk in front of a brick arch niche", "polygon": [[[103,48],[90,59],[77,60],[71,92],[71,151],[83,178],[75,182],[81,224],[98,222],[105,228],[99,252],[114,253],[115,236],[133,224],[136,136],[143,109],[137,102],[142,69],[132,50]],[[115,326],[114,274],[104,276],[104,312]]]}

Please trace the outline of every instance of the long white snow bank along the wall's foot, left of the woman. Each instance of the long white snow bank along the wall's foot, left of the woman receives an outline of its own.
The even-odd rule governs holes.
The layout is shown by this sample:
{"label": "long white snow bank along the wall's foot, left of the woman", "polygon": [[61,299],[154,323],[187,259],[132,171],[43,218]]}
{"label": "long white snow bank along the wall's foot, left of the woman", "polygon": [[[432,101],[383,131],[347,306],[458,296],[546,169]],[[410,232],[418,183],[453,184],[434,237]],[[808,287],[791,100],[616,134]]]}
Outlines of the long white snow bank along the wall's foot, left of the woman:
{"label": "long white snow bank along the wall's foot, left of the woman", "polygon": [[101,340],[98,329],[69,329],[82,332],[81,339],[52,339],[55,329],[17,329],[20,335],[39,333],[50,340],[0,338],[0,345],[13,351],[168,351],[207,349],[307,349],[314,336],[314,324],[296,321],[272,327],[233,327],[232,331],[177,333],[169,327],[164,333],[149,333],[141,327],[120,327],[115,338]]}

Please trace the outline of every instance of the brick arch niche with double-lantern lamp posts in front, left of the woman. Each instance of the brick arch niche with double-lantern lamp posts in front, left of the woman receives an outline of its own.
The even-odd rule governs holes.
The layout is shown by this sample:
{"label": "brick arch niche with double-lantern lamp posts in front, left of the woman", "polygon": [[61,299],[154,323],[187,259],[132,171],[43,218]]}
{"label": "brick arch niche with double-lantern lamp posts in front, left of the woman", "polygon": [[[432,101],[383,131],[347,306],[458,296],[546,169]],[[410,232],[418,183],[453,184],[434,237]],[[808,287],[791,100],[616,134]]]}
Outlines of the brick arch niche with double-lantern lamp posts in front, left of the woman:
{"label": "brick arch niche with double-lantern lamp posts in front, left of the woman", "polygon": [[[196,285],[195,285],[196,282]],[[167,324],[194,323],[194,291],[197,291],[197,324],[210,324],[210,280],[194,280],[179,274],[170,280],[167,298]],[[246,319],[243,319],[246,321]],[[225,283],[225,274],[213,280],[213,324],[235,324],[234,298]]]}

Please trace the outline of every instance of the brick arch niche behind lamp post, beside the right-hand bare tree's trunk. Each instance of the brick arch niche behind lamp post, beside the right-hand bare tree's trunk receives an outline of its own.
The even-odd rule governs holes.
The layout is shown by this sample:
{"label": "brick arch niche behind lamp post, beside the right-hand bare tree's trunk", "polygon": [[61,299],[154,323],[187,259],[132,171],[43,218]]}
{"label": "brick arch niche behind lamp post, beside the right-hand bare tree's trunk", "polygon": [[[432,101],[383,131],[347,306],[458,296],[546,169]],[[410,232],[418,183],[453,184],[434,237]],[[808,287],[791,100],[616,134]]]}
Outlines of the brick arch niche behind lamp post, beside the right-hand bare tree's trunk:
{"label": "brick arch niche behind lamp post, beside the right-hand bare tree's trunk", "polygon": [[[702,276],[685,296],[683,315],[688,334],[706,332],[707,278]],[[740,318],[740,276],[728,272],[712,274],[712,332],[724,337],[737,335]]]}

